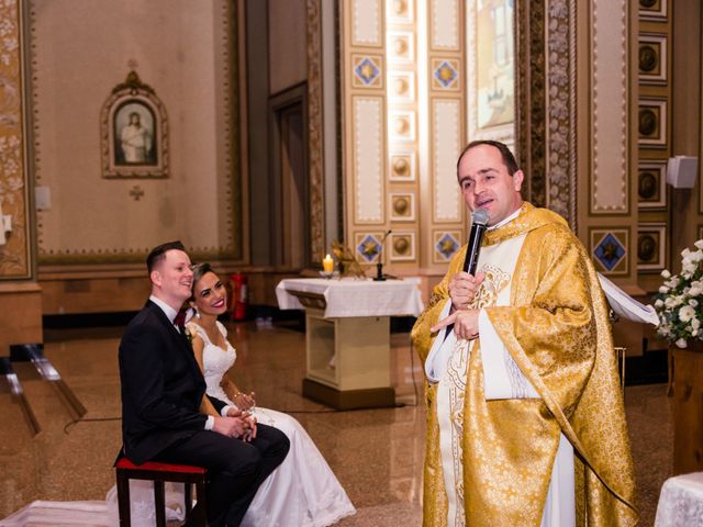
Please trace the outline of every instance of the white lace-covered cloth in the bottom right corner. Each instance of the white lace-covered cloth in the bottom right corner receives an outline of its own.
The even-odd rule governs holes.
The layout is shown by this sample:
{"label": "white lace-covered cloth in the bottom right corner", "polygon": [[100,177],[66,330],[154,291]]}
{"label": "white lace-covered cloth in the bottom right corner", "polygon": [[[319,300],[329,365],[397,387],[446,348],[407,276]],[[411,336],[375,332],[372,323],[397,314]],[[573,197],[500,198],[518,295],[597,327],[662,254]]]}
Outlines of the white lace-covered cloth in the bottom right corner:
{"label": "white lace-covered cloth in the bottom right corner", "polygon": [[663,482],[655,527],[703,527],[703,472]]}

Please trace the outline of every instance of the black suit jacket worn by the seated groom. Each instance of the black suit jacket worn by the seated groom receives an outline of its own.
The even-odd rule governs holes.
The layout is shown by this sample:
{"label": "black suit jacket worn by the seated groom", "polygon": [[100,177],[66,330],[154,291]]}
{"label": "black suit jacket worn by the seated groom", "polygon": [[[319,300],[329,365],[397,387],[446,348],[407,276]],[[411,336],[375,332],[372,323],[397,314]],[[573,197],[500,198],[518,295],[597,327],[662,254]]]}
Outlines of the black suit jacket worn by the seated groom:
{"label": "black suit jacket worn by the seated groom", "polygon": [[[205,427],[205,381],[186,335],[148,301],[120,343],[122,438],[135,463]],[[215,410],[225,403],[210,397]]]}

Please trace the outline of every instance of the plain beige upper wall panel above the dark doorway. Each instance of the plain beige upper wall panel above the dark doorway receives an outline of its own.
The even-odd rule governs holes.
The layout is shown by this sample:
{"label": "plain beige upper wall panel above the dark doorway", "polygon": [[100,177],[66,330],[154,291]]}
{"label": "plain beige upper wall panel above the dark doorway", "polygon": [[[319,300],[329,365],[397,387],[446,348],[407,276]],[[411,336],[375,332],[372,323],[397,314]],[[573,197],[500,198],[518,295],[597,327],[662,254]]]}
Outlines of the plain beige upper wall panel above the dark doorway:
{"label": "plain beige upper wall panel above the dark doorway", "polygon": [[308,79],[305,0],[269,0],[269,87],[278,93]]}

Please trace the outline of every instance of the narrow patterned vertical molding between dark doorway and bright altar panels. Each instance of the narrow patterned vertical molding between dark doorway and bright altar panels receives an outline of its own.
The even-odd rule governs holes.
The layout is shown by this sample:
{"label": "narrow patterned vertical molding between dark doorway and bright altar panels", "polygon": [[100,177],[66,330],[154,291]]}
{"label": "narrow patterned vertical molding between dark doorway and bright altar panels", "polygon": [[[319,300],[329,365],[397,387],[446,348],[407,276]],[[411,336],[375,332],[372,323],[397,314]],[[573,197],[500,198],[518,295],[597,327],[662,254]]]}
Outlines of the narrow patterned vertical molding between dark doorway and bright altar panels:
{"label": "narrow patterned vertical molding between dark doorway and bright altar panels", "polygon": [[310,149],[310,261],[325,253],[322,25],[320,0],[308,0],[308,141]]}

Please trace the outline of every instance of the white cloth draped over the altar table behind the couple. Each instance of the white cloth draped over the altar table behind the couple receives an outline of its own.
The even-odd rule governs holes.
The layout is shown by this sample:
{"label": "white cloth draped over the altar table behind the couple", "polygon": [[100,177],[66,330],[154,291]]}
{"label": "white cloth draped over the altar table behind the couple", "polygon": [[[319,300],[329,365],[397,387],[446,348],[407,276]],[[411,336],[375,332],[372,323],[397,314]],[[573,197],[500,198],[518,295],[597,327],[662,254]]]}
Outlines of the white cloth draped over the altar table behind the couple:
{"label": "white cloth draped over the altar table behind the couple", "polygon": [[327,304],[325,318],[419,316],[424,310],[419,284],[419,278],[383,282],[353,278],[292,278],[279,282],[276,298],[281,310],[302,310],[304,306],[291,291],[322,295]]}

